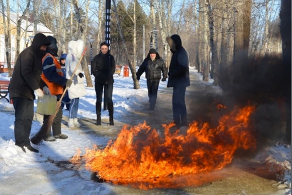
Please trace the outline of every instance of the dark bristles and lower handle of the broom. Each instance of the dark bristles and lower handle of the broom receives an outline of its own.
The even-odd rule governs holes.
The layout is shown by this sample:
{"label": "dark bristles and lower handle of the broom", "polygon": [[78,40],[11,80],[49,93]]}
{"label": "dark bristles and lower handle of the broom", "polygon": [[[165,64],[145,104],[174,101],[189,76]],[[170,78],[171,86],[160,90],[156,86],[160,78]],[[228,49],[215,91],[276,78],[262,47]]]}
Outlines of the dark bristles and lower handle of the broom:
{"label": "dark bristles and lower handle of the broom", "polygon": [[45,121],[44,124],[41,126],[40,130],[37,132],[37,134],[31,138],[31,142],[33,144],[39,145],[41,140],[43,140],[43,138],[45,138],[45,135],[47,134],[48,131],[51,131],[51,126],[53,124],[53,121],[57,115],[57,113],[59,112],[59,108],[60,108],[60,103],[57,102],[57,106],[56,106],[56,112],[54,115],[50,115]]}

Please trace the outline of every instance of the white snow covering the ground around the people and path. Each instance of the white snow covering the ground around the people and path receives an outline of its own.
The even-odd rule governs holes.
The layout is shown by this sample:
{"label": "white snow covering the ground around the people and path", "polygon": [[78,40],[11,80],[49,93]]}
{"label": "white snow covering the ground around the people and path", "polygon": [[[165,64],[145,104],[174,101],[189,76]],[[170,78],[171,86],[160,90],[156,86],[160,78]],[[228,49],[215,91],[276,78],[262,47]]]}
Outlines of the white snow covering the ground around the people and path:
{"label": "white snow covering the ground around the people and path", "polygon": [[[191,74],[198,74],[191,69]],[[142,77],[141,77],[142,78]],[[1,80],[9,80],[6,73],[0,74]],[[114,77],[114,110],[115,118],[123,118],[130,110],[133,101],[144,101],[147,98],[145,80],[141,79],[139,90],[133,89],[131,75],[128,78]],[[93,80],[93,78],[92,78]],[[166,87],[166,82],[161,82],[160,89]],[[95,119],[95,91],[87,88],[87,96],[80,98],[78,117]],[[136,97],[135,98],[128,98]],[[37,101],[35,101],[35,110]],[[67,127],[62,133],[69,136],[66,140],[57,139],[55,142],[42,142],[34,145],[40,152],[33,153],[22,150],[15,145],[14,139],[14,109],[5,99],[0,100],[0,194],[1,195],[110,195],[115,194],[112,186],[107,183],[96,183],[91,181],[90,173],[86,170],[81,172],[85,175],[80,177],[72,170],[64,170],[55,165],[56,161],[68,160],[76,153],[76,149],[85,151],[92,148],[93,144],[105,146],[110,137],[92,136],[84,134],[84,130],[70,130]],[[68,115],[64,111],[63,115]],[[37,117],[37,115],[36,115]],[[102,118],[108,118],[108,112],[102,113]],[[33,121],[31,136],[37,133],[41,127],[41,119]],[[142,122],[142,121],[141,121]],[[110,130],[109,130],[110,131]],[[268,157],[266,157],[268,156]],[[277,164],[284,168],[285,174],[278,188],[285,195],[291,195],[291,146],[275,143],[265,147],[257,154],[255,160],[264,163]],[[57,174],[58,173],[58,174]],[[60,174],[62,173],[62,174]]]}

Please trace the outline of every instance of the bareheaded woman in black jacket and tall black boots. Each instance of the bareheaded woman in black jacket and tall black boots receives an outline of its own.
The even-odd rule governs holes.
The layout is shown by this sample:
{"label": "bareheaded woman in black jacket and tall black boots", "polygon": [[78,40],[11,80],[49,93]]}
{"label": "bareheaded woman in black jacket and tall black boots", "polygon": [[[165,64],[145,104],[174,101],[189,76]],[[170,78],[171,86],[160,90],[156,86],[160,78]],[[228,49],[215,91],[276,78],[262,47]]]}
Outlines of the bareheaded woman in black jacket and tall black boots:
{"label": "bareheaded woman in black jacket and tall black boots", "polygon": [[106,102],[108,104],[110,126],[113,125],[113,102],[112,102],[112,91],[113,91],[113,74],[115,72],[115,60],[110,55],[109,45],[106,42],[100,44],[100,52],[91,61],[91,74],[95,77],[94,87],[96,93],[96,125],[101,125],[101,102],[103,89],[106,96]]}

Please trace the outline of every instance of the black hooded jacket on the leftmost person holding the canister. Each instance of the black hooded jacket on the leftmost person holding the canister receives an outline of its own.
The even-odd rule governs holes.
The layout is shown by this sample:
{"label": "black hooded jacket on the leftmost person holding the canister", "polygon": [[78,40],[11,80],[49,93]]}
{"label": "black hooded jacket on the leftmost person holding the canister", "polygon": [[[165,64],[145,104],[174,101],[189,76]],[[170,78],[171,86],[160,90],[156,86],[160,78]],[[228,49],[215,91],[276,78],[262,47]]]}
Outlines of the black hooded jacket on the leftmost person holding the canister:
{"label": "black hooded jacket on the leftmost person holding the canister", "polygon": [[45,86],[41,82],[41,60],[45,51],[40,50],[42,45],[49,45],[49,39],[42,33],[37,33],[32,45],[24,49],[15,63],[9,86],[9,98],[35,99],[34,90]]}

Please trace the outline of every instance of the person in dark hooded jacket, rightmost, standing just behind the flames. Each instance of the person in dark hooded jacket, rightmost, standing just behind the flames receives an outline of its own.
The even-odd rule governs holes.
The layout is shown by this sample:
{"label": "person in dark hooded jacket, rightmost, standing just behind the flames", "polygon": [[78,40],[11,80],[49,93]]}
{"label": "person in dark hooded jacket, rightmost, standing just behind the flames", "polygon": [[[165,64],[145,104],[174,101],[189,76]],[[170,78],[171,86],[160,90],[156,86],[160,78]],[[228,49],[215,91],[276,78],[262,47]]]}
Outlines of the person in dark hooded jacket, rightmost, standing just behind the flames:
{"label": "person in dark hooded jacket, rightmost, standing just behind the flames", "polygon": [[187,126],[187,113],[185,106],[185,90],[190,86],[188,55],[182,46],[179,35],[166,38],[172,52],[168,71],[167,87],[173,87],[172,112],[177,127]]}

